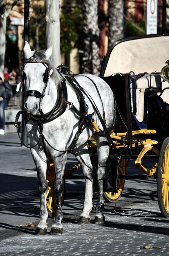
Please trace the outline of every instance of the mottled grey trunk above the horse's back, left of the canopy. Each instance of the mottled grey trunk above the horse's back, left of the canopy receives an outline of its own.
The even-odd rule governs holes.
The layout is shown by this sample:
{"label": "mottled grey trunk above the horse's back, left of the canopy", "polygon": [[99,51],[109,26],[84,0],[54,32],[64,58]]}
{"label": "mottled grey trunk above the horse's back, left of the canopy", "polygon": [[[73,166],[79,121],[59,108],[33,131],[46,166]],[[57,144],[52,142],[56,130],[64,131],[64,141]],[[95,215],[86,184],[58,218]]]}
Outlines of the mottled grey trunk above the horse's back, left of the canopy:
{"label": "mottled grey trunk above the horse's back, left of the canopy", "polygon": [[84,44],[83,72],[99,76],[101,60],[99,57],[98,0],[84,0]]}

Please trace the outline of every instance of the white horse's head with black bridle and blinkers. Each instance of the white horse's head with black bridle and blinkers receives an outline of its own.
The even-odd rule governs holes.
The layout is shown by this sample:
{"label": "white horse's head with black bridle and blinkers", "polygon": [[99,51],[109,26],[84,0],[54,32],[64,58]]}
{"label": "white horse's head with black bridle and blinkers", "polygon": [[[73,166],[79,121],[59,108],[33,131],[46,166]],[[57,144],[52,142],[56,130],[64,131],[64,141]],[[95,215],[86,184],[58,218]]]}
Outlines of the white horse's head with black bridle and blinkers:
{"label": "white horse's head with black bridle and blinkers", "polygon": [[25,90],[25,110],[28,114],[37,114],[41,109],[41,102],[45,96],[50,72],[48,60],[52,54],[52,48],[42,51],[31,51],[25,42],[25,62],[21,70]]}

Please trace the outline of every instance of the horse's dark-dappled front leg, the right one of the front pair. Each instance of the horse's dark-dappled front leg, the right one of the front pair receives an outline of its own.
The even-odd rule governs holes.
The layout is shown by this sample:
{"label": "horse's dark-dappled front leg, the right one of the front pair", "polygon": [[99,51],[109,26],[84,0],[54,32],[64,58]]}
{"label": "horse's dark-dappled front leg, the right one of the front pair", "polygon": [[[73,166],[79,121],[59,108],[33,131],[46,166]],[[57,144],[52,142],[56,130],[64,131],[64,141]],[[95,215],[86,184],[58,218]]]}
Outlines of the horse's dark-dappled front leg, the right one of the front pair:
{"label": "horse's dark-dappled front leg, the right one of the front pair", "polygon": [[55,160],[55,181],[54,181],[54,193],[56,198],[56,211],[54,213],[54,224],[52,224],[50,234],[56,235],[59,233],[63,233],[63,226],[62,226],[62,207],[61,207],[61,197],[63,192],[63,175],[65,171],[65,164],[66,164],[67,153],[56,157]]}

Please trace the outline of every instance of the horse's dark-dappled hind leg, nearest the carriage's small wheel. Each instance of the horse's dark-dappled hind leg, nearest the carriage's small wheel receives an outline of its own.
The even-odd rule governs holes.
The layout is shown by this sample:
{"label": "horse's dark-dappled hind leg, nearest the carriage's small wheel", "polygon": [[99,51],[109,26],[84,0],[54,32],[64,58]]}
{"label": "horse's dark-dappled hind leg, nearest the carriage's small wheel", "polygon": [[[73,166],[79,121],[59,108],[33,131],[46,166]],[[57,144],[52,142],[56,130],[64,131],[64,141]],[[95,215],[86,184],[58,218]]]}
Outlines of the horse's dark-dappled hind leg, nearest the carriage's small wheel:
{"label": "horse's dark-dappled hind leg, nearest the carriage's small wheel", "polygon": [[104,200],[103,200],[103,183],[106,173],[106,161],[109,155],[109,147],[105,138],[97,138],[97,153],[98,153],[98,169],[97,169],[97,178],[98,178],[98,199],[96,204],[96,215],[94,219],[95,224],[104,224]]}

